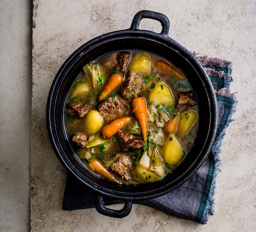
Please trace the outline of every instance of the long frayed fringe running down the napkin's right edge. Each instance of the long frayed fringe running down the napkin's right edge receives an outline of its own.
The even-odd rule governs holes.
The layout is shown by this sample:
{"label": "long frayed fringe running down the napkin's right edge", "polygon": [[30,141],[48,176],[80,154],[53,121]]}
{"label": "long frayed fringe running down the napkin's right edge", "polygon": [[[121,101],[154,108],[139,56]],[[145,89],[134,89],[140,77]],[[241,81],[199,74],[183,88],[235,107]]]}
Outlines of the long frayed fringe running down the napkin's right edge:
{"label": "long frayed fringe running down the napkin's right edge", "polygon": [[[223,89],[226,89],[226,88],[223,88]],[[220,92],[220,91],[218,91],[218,92]],[[223,130],[221,131],[220,135],[216,138],[215,143],[214,143],[214,145],[212,147],[212,150],[211,150],[211,152],[213,154],[213,158],[215,160],[215,170],[214,170],[214,174],[213,174],[213,180],[212,180],[211,188],[210,188],[210,191],[209,191],[209,198],[206,202],[206,207],[204,209],[202,220],[200,221],[202,224],[206,224],[207,221],[208,221],[208,215],[213,215],[214,212],[215,212],[215,209],[214,209],[214,206],[215,206],[214,194],[215,194],[215,187],[216,187],[216,177],[221,172],[221,169],[220,169],[221,159],[220,159],[219,154],[221,153],[222,140],[223,140],[223,138],[226,134],[226,129],[229,126],[229,124],[233,121],[232,115],[233,115],[233,113],[235,113],[236,106],[237,106],[236,96],[229,93],[229,91],[227,89],[223,92],[225,92],[226,95],[221,95],[221,94],[219,94],[219,95],[228,96],[228,97],[233,98],[233,106],[230,109],[230,114],[229,114],[228,119],[227,119],[227,124],[225,124],[225,126],[224,126]],[[229,94],[227,94],[227,92]]]}

